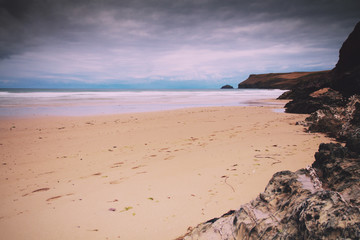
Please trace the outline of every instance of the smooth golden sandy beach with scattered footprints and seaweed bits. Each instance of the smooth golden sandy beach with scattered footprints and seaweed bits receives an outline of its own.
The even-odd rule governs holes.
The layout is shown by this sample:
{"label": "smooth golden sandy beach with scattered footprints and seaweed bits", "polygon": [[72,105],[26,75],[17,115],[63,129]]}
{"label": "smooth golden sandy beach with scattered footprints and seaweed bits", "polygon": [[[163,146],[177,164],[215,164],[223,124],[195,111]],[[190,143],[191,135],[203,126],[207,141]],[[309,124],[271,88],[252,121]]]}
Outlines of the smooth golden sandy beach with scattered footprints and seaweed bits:
{"label": "smooth golden sandy beach with scattered footprints and seaweed bits", "polygon": [[174,239],[321,142],[272,107],[0,119],[1,239]]}

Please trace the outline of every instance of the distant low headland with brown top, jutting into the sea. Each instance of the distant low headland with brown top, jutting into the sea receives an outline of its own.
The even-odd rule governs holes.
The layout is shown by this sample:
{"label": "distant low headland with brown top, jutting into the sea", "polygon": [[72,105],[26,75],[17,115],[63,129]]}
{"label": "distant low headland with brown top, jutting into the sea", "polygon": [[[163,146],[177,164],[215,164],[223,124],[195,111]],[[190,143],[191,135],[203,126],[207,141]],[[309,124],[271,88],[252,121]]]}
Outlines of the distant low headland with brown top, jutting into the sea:
{"label": "distant low headland with brown top, jutting into the sea", "polygon": [[239,83],[238,88],[289,90],[300,82],[307,82],[314,77],[319,78],[329,72],[330,71],[251,74],[248,79]]}

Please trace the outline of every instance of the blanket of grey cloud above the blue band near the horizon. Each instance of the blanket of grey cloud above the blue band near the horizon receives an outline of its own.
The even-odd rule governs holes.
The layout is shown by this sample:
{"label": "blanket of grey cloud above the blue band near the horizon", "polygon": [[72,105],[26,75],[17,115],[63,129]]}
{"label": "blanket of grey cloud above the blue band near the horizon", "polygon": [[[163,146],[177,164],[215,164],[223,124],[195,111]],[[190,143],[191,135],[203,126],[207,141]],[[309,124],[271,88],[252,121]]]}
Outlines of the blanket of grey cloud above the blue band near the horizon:
{"label": "blanket of grey cloud above the blue band near the horizon", "polygon": [[[62,72],[73,71],[65,66],[72,56],[80,59],[79,65],[76,59],[72,63],[78,69],[113,61],[106,64],[116,63],[121,71],[136,73],[138,65],[154,65],[161,72],[169,66],[156,64],[177,57],[186,60],[193,49],[204,54],[198,56],[199,64],[209,53],[216,68],[217,56],[225,59],[237,52],[239,57],[222,62],[230,63],[250,58],[241,51],[261,54],[259,49],[269,48],[267,53],[275,56],[275,50],[286,47],[295,49],[287,57],[298,54],[306,61],[304,54],[319,52],[324,54],[319,59],[330,61],[330,52],[338,51],[359,21],[359,12],[359,0],[0,0],[0,65],[36,53],[26,56],[59,54],[51,59]],[[254,63],[261,59],[251,57]],[[189,67],[185,60],[182,64]]]}

